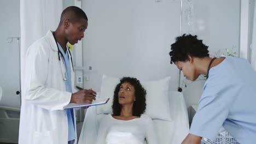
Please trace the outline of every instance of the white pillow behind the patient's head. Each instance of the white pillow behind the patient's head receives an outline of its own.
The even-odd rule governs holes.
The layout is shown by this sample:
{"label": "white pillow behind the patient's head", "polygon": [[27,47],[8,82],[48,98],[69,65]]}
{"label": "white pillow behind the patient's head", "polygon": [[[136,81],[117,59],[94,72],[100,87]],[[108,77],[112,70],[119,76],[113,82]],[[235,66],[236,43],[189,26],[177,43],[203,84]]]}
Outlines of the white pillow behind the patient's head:
{"label": "white pillow behind the patient's head", "polygon": [[[170,80],[171,77],[165,77],[156,81],[141,81],[141,85],[147,91],[147,109],[145,114],[149,115],[152,119],[172,121],[167,93],[170,88]],[[110,99],[107,104],[97,106],[97,114],[112,113],[114,89],[119,82],[119,78],[103,75],[99,97]]]}

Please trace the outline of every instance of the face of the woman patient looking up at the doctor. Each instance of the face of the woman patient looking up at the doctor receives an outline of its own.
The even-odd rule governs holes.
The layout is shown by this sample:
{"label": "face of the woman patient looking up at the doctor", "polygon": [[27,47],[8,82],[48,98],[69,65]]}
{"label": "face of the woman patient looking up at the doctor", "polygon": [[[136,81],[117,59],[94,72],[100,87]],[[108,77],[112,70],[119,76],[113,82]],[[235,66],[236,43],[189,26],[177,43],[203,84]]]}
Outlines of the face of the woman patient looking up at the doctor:
{"label": "face of the woman patient looking up at the doctor", "polygon": [[118,101],[121,105],[130,105],[135,101],[135,88],[129,82],[121,84],[118,92]]}

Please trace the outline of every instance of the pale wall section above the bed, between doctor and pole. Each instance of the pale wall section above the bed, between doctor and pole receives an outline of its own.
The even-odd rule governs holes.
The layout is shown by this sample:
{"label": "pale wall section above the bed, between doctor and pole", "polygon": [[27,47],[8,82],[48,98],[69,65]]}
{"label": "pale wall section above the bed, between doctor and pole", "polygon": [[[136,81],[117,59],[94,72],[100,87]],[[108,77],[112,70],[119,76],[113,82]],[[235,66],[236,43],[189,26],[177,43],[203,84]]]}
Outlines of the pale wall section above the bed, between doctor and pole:
{"label": "pale wall section above the bed, between doctor and pole", "polygon": [[[139,80],[172,77],[178,87],[178,69],[170,64],[170,45],[179,35],[180,1],[85,0],[89,25],[83,40],[85,88],[100,91],[102,74],[135,76]],[[85,78],[85,77],[84,77]]]}

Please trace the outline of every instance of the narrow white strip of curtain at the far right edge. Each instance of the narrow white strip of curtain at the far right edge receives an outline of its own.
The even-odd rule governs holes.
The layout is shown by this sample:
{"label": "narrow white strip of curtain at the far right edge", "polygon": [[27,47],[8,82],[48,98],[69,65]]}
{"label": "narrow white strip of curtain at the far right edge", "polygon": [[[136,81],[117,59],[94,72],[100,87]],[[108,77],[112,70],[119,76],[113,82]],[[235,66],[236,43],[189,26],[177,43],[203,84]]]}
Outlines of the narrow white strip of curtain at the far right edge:
{"label": "narrow white strip of curtain at the far right edge", "polygon": [[252,56],[251,64],[254,70],[256,71],[256,4],[254,6],[254,15],[253,15],[253,35],[252,35]]}

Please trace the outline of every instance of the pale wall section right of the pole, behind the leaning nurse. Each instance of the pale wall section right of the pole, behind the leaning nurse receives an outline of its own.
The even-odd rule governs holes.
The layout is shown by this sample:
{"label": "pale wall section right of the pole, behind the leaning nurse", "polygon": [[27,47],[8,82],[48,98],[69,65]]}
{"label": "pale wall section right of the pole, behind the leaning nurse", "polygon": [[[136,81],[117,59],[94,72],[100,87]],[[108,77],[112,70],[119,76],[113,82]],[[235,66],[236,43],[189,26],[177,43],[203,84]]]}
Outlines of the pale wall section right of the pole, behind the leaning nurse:
{"label": "pale wall section right of the pole, behind the leaning nurse", "polygon": [[[192,30],[190,32],[198,35],[198,38],[209,46],[210,54],[216,55],[219,50],[225,53],[225,49],[231,50],[232,47],[238,53],[240,0],[196,0],[190,2],[193,3]],[[185,28],[188,27],[187,25],[187,23],[183,23]],[[185,30],[183,29],[183,31]],[[198,104],[204,82],[196,81],[188,85],[187,88],[183,88],[187,106]]]}

